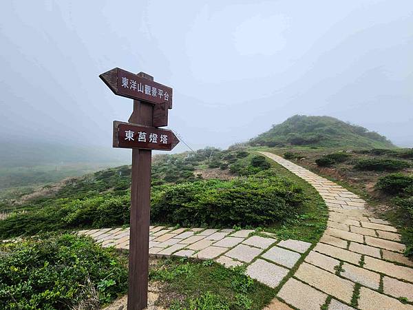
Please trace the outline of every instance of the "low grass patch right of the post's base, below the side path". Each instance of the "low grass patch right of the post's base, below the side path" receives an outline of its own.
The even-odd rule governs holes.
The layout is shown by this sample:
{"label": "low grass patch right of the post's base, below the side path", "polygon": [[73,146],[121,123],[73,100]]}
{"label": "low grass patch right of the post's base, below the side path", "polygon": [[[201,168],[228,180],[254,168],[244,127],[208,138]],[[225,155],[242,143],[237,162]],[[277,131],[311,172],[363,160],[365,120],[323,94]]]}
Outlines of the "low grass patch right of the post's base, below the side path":
{"label": "low grass patch right of the post's base, below the side path", "polygon": [[[158,305],[169,309],[262,309],[275,291],[211,260],[160,259],[149,273],[162,282]],[[168,297],[169,296],[169,297]]]}

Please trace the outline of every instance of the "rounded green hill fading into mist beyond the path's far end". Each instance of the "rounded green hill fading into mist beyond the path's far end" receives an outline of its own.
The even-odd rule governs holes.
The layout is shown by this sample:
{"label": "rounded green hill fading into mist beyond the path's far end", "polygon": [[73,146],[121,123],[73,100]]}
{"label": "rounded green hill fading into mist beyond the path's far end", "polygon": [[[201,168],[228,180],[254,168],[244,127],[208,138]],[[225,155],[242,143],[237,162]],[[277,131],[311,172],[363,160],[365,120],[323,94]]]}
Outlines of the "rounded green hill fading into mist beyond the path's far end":
{"label": "rounded green hill fading into mist beyond the path's far end", "polygon": [[248,141],[252,146],[395,147],[385,136],[330,116],[295,115]]}

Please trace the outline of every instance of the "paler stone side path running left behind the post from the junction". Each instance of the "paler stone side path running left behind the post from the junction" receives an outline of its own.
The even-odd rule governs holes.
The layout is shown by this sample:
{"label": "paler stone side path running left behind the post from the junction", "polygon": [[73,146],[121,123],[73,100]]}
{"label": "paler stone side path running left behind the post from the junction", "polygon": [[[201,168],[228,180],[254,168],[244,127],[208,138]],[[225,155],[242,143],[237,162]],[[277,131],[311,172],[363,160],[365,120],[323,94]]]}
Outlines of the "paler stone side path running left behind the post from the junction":
{"label": "paler stone side path running left behind the post from the junction", "polygon": [[[129,249],[129,228],[78,231],[102,247]],[[251,278],[277,287],[311,246],[299,240],[277,240],[271,234],[253,235],[253,229],[201,229],[151,226],[149,254],[215,260],[225,267],[246,266]]]}

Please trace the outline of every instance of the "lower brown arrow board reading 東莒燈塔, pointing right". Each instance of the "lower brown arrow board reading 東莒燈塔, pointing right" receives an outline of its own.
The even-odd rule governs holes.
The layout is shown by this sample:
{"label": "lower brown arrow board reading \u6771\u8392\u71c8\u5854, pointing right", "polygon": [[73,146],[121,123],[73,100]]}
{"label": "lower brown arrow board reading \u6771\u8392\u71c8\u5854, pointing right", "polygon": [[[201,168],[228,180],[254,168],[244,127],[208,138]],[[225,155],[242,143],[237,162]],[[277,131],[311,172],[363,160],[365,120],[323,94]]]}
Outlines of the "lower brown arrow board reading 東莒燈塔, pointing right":
{"label": "lower brown arrow board reading \u6771\u8392\u71c8\u5854, pointing right", "polygon": [[178,143],[171,130],[114,121],[114,147],[170,151]]}

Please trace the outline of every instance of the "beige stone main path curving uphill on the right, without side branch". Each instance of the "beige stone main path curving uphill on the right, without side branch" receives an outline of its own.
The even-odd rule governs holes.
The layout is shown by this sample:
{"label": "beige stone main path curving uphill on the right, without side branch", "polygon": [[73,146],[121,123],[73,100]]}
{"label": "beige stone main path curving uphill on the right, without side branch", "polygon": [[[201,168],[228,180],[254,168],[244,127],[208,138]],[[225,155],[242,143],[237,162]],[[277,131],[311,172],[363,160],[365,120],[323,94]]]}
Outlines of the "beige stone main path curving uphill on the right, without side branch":
{"label": "beige stone main path curving uphill on the right, without side branch", "polygon": [[[277,296],[302,309],[413,309],[413,262],[390,223],[373,218],[366,202],[343,187],[268,152],[261,152],[313,185],[329,209],[328,228]],[[268,309],[290,309],[279,300]]]}

